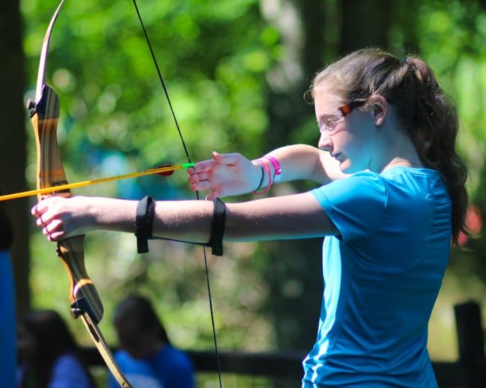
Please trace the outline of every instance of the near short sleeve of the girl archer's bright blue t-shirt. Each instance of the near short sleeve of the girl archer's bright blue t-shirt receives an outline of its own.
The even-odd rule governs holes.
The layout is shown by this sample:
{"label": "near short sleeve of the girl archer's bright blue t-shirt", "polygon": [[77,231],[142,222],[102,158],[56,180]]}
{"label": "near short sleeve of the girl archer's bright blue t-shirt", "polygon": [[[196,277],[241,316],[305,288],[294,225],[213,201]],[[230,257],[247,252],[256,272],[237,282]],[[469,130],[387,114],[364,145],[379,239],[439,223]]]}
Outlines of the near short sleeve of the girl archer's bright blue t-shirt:
{"label": "near short sleeve of the girl archer's bright blue t-shirt", "polygon": [[380,224],[387,202],[383,179],[369,171],[311,192],[345,241],[371,235]]}

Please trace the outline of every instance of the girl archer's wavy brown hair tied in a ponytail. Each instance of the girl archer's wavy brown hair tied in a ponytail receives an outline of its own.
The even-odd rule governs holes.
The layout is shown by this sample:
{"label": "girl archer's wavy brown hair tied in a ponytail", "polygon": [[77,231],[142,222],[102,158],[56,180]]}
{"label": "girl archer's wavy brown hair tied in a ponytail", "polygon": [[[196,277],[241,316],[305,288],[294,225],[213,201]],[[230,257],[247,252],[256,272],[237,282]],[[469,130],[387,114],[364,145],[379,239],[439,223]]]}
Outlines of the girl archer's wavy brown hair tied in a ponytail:
{"label": "girl archer's wavy brown hair tied in a ponytail", "polygon": [[455,151],[458,117],[454,104],[437,83],[432,69],[417,56],[399,60],[380,49],[362,49],[341,58],[315,76],[310,90],[324,82],[349,101],[362,101],[367,110],[371,96],[380,94],[396,109],[425,167],[436,169],[452,200],[452,241],[458,242],[467,212],[467,167]]}

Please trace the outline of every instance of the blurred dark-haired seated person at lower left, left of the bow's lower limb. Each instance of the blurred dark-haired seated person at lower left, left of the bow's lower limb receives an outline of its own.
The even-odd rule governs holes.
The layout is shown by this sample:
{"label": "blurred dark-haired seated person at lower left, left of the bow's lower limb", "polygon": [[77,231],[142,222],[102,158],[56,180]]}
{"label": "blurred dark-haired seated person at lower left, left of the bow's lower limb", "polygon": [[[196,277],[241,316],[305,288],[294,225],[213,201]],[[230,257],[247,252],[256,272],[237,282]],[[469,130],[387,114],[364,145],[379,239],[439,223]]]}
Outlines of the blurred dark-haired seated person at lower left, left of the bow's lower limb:
{"label": "blurred dark-haired seated person at lower left, left of the bow's lower limb", "polygon": [[78,345],[52,310],[26,314],[17,328],[18,388],[94,388]]}

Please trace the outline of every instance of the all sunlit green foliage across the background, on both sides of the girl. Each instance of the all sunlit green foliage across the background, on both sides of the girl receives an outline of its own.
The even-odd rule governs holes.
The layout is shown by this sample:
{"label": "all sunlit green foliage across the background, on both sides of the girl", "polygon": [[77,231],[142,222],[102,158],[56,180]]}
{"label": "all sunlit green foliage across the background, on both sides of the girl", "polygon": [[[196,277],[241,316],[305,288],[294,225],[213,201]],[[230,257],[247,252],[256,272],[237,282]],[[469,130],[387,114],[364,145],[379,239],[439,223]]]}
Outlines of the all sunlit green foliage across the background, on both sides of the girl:
{"label": "all sunlit green foliage across the background, on both sides of the girl", "polygon": [[[328,10],[332,8],[330,15],[340,12],[336,3],[326,1]],[[430,63],[456,101],[461,126],[460,151],[471,168],[471,198],[485,214],[482,189],[486,182],[486,132],[483,130],[486,11],[480,1],[425,0],[414,9],[417,19],[410,22],[407,15],[411,6],[408,2],[404,4],[396,2],[397,19],[392,29],[383,33],[392,40],[389,47],[396,53],[406,51],[410,37],[416,38],[413,44],[419,55]],[[32,96],[42,38],[57,0],[22,0],[21,6],[29,85],[26,94]],[[286,114],[296,100],[286,96],[287,99],[278,101],[282,103],[280,108],[270,112],[267,78],[271,71],[275,76],[275,69],[288,63],[285,61],[294,53],[285,46],[278,23],[270,23],[260,15],[259,1],[139,0],[139,7],[178,124],[194,160],[208,158],[213,149],[241,151],[249,157],[260,155],[266,151],[263,147],[269,143],[269,135],[278,140],[285,135],[294,142],[317,141],[312,109],[300,112],[301,117],[295,117],[292,123],[285,123],[294,126],[290,133],[272,132],[275,127],[270,121],[286,121]],[[274,10],[280,15],[278,11]],[[333,42],[337,42],[334,29],[330,34]],[[322,58],[327,60],[328,53],[322,53]],[[47,82],[60,97],[58,139],[69,181],[185,161],[181,140],[131,1],[74,3],[66,0],[52,34]],[[289,90],[295,93],[292,87]],[[285,94],[289,90],[280,92]],[[296,97],[300,98],[302,92]],[[32,135],[30,144],[33,144]],[[30,167],[26,176],[33,180],[33,145],[29,150]],[[193,198],[185,186],[184,174],[176,173],[171,178],[141,178],[79,189],[76,194]],[[90,344],[84,329],[80,328],[81,323],[69,319],[67,278],[52,244],[45,242],[40,233],[32,236],[31,287],[35,307],[56,308],[69,320],[76,337],[83,344]],[[476,244],[475,252],[486,251],[482,239],[471,244]],[[106,309],[101,330],[106,332],[110,343],[116,342],[111,325],[115,303],[128,292],[138,291],[156,301],[176,345],[212,348],[204,263],[199,248],[153,242],[151,253],[140,256],[135,254],[133,236],[104,232],[90,235],[86,246],[87,270],[99,288]],[[225,258],[211,255],[208,258],[219,346],[251,351],[275,348],[278,335],[286,329],[280,328],[278,332],[272,326],[266,294],[284,295],[285,290],[299,289],[306,281],[282,273],[289,278],[272,282],[269,269],[273,268],[272,260],[280,258],[270,258],[261,244],[228,244],[225,248]],[[471,279],[470,272],[455,272],[461,267],[455,263],[464,255],[471,271],[478,267],[484,271],[485,265],[477,264],[479,255],[471,257],[474,255],[454,251],[451,266],[454,271],[449,270],[446,275],[444,291],[431,323],[433,343],[429,348],[434,358],[455,357],[451,303],[471,293],[480,298],[481,290],[484,291],[486,275],[474,277],[474,291],[460,287],[468,276]],[[308,269],[305,260],[295,265],[300,267],[290,273]],[[288,327],[293,325],[294,321],[289,321]]]}

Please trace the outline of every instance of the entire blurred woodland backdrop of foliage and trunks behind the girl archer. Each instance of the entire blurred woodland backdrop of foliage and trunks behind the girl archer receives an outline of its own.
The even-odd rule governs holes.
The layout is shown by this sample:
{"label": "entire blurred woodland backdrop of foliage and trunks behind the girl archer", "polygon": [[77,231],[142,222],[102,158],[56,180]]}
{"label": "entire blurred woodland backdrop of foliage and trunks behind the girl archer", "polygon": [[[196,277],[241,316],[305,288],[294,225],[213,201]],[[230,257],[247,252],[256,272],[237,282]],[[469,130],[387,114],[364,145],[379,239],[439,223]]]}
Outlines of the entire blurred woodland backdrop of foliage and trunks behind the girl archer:
{"label": "entire blurred woodland backdrop of foliage and trunks behind the girl archer", "polygon": [[[24,106],[35,92],[42,40],[57,5],[4,0],[0,9],[1,194],[35,188],[35,142]],[[486,1],[139,0],[138,6],[193,161],[213,150],[256,158],[285,144],[317,144],[313,108],[303,93],[326,63],[371,46],[399,58],[422,56],[458,106],[459,149],[470,169],[469,224],[480,234],[486,211]],[[69,182],[186,161],[132,1],[66,0],[51,37],[47,83],[60,99],[58,142]],[[194,199],[185,178],[176,171],[73,192]],[[295,183],[272,191],[310,188]],[[14,223],[17,314],[31,307],[58,310],[78,341],[91,346],[81,323],[69,316],[67,275],[55,246],[29,215],[34,203],[5,203]],[[470,299],[485,305],[486,240],[480,235],[462,238],[462,244],[452,251],[430,320],[433,360],[458,358],[453,305]],[[308,351],[321,302],[320,249],[321,240],[312,239],[225,244],[222,258],[208,252],[219,348]],[[100,232],[87,236],[85,255],[110,344],[116,341],[113,306],[137,290],[156,301],[176,346],[213,348],[200,247],[153,241],[150,253],[137,255],[133,235]],[[209,377],[200,379],[201,386],[215,386]]]}

